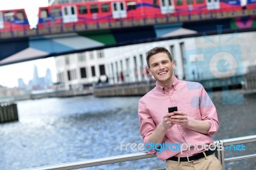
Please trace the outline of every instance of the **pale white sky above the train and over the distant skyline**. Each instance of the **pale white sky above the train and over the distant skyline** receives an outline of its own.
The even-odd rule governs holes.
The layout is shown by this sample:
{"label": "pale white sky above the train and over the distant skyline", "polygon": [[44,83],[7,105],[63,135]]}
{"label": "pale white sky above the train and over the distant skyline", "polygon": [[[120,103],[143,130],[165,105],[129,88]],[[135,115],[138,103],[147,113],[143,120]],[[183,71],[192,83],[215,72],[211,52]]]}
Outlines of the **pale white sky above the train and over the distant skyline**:
{"label": "pale white sky above the train and over the distant skyline", "polygon": [[[48,6],[47,0],[0,0],[0,3],[0,10],[24,8],[31,27],[36,26],[38,7]],[[17,87],[19,78],[28,84],[29,80],[33,79],[34,65],[37,66],[39,77],[44,77],[47,68],[49,68],[52,73],[52,81],[56,82],[54,58],[46,58],[0,66],[0,85],[8,88]]]}

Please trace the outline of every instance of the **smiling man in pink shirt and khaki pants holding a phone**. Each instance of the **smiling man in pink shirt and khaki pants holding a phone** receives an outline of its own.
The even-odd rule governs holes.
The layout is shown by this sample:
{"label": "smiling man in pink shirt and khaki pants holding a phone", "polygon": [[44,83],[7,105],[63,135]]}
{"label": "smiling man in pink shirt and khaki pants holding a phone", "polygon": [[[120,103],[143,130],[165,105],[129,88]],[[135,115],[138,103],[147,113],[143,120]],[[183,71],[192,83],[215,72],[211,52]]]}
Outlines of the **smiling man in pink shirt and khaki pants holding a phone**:
{"label": "smiling man in pink shirt and khaki pants holding a phone", "polygon": [[[177,79],[172,55],[163,47],[147,52],[147,65],[156,87],[140,99],[138,114],[148,153],[166,160],[166,169],[222,169],[207,147],[213,143],[211,135],[216,134],[219,122],[203,86]],[[168,112],[173,106],[177,111]]]}

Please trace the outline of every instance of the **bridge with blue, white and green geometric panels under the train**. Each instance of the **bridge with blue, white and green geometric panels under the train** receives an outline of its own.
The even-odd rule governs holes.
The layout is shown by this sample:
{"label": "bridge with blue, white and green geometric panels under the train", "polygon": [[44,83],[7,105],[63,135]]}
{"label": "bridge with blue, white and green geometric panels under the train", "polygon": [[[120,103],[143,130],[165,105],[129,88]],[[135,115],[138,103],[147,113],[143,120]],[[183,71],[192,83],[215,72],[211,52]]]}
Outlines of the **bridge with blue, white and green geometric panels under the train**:
{"label": "bridge with blue, white and green geometric panels under the train", "polygon": [[0,66],[132,43],[217,34],[216,25],[223,26],[223,33],[254,31],[255,13],[255,9],[220,10],[204,15],[166,15],[156,19],[119,19],[82,26],[52,25],[44,29],[0,32]]}

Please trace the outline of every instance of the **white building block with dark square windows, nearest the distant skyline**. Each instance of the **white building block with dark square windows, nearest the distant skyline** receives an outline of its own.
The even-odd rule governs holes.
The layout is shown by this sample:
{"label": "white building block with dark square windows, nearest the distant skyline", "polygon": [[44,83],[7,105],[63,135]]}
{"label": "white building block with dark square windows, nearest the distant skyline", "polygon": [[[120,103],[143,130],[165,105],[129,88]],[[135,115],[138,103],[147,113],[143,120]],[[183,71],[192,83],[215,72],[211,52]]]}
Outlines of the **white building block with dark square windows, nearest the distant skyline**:
{"label": "white building block with dark square windows, nearest the distant skyline", "polygon": [[55,62],[58,89],[86,89],[108,75],[103,50],[58,56]]}

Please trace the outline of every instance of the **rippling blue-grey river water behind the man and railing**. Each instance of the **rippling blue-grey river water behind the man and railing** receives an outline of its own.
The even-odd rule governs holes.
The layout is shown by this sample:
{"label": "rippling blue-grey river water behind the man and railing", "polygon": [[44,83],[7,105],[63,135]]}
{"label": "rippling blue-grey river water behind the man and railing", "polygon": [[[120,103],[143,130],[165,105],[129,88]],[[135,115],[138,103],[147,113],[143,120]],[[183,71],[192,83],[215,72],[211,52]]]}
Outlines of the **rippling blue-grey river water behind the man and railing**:
{"label": "rippling blue-grey river water behind the man and railing", "polygon": [[[214,140],[255,135],[256,94],[243,104],[223,105],[214,93],[220,129]],[[109,157],[139,150],[120,149],[120,143],[141,143],[138,121],[140,97],[44,98],[17,102],[19,121],[0,124],[0,169],[16,170]],[[256,153],[255,143],[246,151],[225,151],[225,156]],[[157,169],[157,158],[84,169]],[[255,159],[225,164],[225,169],[255,169]]]}

